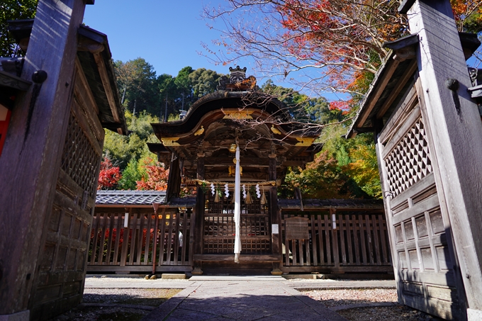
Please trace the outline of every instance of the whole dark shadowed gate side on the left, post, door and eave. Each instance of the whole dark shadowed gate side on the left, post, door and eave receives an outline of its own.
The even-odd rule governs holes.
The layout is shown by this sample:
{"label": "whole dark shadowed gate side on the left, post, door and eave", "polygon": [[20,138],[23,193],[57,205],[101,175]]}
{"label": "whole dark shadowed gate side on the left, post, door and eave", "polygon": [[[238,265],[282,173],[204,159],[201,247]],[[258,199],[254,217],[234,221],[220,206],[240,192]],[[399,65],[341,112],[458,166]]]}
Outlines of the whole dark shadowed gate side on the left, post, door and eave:
{"label": "whole dark shadowed gate side on the left, post, door and eave", "polygon": [[127,132],[106,35],[81,26],[86,4],[40,0],[13,28],[28,44],[15,79],[27,86],[0,158],[1,320],[47,320],[82,301],[103,128]]}

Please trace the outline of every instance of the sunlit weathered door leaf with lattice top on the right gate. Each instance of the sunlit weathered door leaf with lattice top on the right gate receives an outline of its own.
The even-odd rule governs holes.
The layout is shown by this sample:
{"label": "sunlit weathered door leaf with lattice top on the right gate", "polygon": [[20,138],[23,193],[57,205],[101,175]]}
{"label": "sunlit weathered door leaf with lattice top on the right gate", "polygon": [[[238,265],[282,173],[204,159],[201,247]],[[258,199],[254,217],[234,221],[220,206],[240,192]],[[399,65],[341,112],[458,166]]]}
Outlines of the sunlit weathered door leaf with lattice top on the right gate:
{"label": "sunlit weathered door leaf with lattice top on the right gate", "polygon": [[415,85],[377,137],[398,298],[447,320],[464,320],[463,286]]}

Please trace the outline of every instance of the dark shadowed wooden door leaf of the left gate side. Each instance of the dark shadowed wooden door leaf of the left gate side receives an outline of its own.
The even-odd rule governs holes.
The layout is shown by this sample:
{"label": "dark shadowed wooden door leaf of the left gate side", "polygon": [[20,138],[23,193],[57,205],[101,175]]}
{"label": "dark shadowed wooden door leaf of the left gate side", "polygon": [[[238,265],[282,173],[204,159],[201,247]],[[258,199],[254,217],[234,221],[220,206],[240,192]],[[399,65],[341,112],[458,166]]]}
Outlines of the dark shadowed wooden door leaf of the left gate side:
{"label": "dark shadowed wooden door leaf of the left gate side", "polygon": [[[82,70],[76,75],[82,77]],[[48,320],[82,301],[104,131],[94,106],[78,94],[79,86],[82,81],[75,81],[30,320]]]}

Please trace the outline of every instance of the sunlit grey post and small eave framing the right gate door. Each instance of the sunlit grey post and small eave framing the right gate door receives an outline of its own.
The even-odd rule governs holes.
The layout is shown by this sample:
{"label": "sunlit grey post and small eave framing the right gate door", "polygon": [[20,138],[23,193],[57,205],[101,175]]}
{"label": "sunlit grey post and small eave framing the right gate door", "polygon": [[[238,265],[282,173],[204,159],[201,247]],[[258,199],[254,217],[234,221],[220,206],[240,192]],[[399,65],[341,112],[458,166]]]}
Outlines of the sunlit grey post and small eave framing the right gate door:
{"label": "sunlit grey post and small eave framing the right gate door", "polygon": [[[482,171],[476,160],[482,157],[482,125],[476,103],[466,90],[471,87],[471,79],[465,62],[468,57],[464,57],[465,52],[473,52],[480,43],[477,40],[467,43],[461,39],[448,0],[403,1],[399,10],[408,13],[413,35],[386,44],[393,52],[379,71],[347,136],[374,131],[376,140],[381,143],[379,134],[383,128],[394,125],[389,116],[400,103],[402,90],[410,89],[407,87],[412,77],[408,72],[410,69],[405,67],[405,74],[400,74],[398,64],[401,66],[405,60],[415,60],[418,69],[415,73],[419,78],[416,97],[420,101],[427,140],[432,149],[440,208],[447,218],[447,242],[453,240],[451,251],[456,288],[459,300],[466,307],[466,311],[452,318],[481,320],[482,220],[479,213],[482,208]],[[398,81],[393,81],[394,77],[398,77]],[[379,154],[383,174],[380,157]],[[388,201],[391,198],[391,191],[386,188],[388,178],[382,176],[382,179],[385,180],[383,196]],[[389,203],[386,202],[387,215],[391,213]],[[396,254],[395,237],[395,231],[391,230],[393,254]],[[401,281],[398,279],[399,291],[403,286]],[[447,300],[452,302],[453,298]],[[421,303],[417,308],[429,307],[427,303],[425,307]],[[437,307],[431,312],[437,312]]]}

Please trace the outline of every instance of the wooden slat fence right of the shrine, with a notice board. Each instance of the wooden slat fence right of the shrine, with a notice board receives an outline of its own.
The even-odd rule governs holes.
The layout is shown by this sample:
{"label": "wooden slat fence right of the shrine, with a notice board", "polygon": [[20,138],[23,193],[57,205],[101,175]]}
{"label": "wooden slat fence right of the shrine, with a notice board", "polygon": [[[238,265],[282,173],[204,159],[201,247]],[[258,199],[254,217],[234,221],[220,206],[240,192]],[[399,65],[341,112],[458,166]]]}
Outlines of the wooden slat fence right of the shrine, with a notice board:
{"label": "wooden slat fence right of the shrine, with a notice board", "polygon": [[[306,240],[286,238],[286,219],[304,218],[308,225]],[[374,266],[391,266],[390,244],[383,214],[283,215],[281,233],[283,264],[292,266],[359,266],[353,271],[376,271]],[[292,234],[292,233],[288,233]]]}

